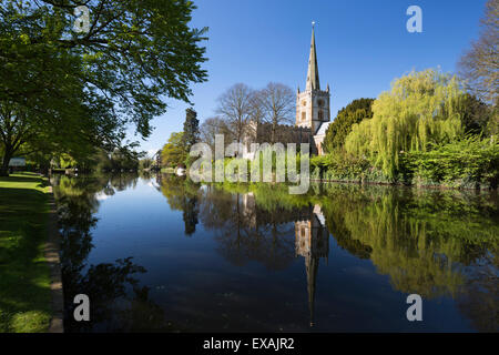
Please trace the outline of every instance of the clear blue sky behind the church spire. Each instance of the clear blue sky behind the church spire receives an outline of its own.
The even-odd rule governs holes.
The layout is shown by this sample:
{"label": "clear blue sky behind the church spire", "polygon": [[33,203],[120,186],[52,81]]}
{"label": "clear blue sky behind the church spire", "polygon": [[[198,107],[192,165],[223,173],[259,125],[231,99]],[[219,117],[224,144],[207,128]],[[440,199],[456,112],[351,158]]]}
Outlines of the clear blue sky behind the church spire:
{"label": "clear blue sky behind the church spire", "polygon": [[[357,98],[376,98],[395,78],[437,68],[455,72],[478,38],[486,0],[197,0],[192,27],[208,27],[204,42],[208,81],[192,87],[203,122],[215,115],[216,99],[237,82],[254,89],[267,82],[305,88],[310,22],[322,88],[332,89],[332,119]],[[422,33],[409,33],[409,6],[422,10]],[[162,148],[182,131],[187,104],[167,100],[141,149]],[[131,133],[133,131],[131,130]],[[131,139],[139,138],[131,134]]]}

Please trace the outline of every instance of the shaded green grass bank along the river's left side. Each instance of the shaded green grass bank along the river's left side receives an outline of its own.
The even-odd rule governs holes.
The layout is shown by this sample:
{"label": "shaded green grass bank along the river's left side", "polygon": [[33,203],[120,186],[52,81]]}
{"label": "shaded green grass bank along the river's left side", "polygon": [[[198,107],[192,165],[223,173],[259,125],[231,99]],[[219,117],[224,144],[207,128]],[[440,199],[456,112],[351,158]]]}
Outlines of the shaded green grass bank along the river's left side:
{"label": "shaded green grass bank along the river's left side", "polygon": [[47,332],[51,317],[47,180],[0,178],[0,333]]}

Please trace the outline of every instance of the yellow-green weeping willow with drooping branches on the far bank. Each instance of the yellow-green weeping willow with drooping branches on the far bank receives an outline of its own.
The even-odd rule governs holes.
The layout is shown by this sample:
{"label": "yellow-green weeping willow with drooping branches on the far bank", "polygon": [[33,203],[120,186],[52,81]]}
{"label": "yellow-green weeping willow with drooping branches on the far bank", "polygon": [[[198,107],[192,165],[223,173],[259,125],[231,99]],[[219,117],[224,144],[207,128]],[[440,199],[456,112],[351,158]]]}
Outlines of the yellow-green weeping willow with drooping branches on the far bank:
{"label": "yellow-green weeping willow with drooping branches on the far bank", "polygon": [[354,124],[347,152],[369,159],[395,179],[399,156],[462,135],[464,91],[456,77],[428,69],[397,79],[373,103],[373,119]]}

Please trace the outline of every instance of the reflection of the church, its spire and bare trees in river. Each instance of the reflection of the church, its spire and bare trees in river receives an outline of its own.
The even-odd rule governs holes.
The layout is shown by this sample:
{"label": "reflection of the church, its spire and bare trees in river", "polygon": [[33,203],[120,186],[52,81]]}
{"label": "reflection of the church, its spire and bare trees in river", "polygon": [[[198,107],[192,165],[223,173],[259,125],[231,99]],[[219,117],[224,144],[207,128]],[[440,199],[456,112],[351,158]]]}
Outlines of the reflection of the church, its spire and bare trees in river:
{"label": "reflection of the church, its spire and bare trees in river", "polygon": [[[318,204],[285,209],[261,205],[253,192],[228,193],[215,186],[192,190],[160,181],[172,209],[183,211],[185,235],[202,223],[217,250],[235,266],[256,261],[268,270],[286,270],[296,257],[305,264],[309,325],[314,326],[315,292],[320,258],[327,264],[329,232]],[[193,204],[192,202],[196,203]],[[189,217],[186,217],[189,216]]]}

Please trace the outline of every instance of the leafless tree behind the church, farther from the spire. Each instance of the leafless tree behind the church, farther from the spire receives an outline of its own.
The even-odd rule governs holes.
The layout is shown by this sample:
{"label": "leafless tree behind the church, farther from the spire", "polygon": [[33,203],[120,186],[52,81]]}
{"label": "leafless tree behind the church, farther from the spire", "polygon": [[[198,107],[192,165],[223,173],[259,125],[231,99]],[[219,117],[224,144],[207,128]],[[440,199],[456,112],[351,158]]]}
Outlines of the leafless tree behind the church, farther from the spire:
{"label": "leafless tree behind the church, farther from the spire", "polygon": [[231,87],[218,98],[216,112],[225,120],[237,142],[242,142],[247,123],[253,116],[253,100],[254,90],[243,83]]}

